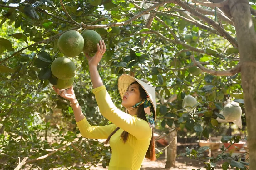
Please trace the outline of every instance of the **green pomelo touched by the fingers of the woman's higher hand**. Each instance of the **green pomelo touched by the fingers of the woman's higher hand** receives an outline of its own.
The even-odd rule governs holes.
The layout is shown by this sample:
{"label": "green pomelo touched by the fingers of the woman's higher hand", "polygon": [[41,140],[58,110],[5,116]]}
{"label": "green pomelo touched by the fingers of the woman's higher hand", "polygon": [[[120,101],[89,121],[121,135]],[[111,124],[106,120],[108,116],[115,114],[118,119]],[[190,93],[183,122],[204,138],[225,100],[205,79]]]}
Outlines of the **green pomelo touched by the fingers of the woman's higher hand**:
{"label": "green pomelo touched by the fingers of the woman's higher hand", "polygon": [[85,30],[82,34],[84,38],[84,52],[88,54],[96,53],[97,43],[102,40],[101,35],[94,30]]}

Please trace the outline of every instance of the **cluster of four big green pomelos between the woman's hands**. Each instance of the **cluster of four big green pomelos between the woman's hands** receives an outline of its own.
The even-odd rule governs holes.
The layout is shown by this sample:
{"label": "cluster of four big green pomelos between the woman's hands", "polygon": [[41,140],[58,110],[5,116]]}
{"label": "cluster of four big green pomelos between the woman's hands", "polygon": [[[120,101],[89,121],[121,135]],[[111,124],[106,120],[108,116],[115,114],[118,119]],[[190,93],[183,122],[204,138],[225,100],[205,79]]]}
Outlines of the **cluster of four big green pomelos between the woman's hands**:
{"label": "cluster of four big green pomelos between the woman's hands", "polygon": [[55,88],[68,89],[73,85],[76,65],[68,57],[76,57],[82,51],[92,54],[97,52],[97,43],[101,35],[94,30],[85,30],[82,34],[75,30],[63,33],[58,39],[58,48],[66,57],[56,58],[51,65],[52,77],[57,78]]}

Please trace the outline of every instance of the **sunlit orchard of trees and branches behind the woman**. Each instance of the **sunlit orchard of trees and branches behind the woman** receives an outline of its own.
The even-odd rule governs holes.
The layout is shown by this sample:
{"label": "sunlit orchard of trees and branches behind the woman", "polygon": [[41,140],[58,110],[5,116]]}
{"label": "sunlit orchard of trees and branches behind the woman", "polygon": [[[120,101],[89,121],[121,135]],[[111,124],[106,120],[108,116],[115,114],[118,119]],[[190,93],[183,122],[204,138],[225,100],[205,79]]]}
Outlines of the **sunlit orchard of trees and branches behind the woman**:
{"label": "sunlit orchard of trees and branches behind the woman", "polygon": [[[2,169],[107,166],[109,146],[79,136],[69,102],[38,76],[51,61],[41,56],[35,62],[42,51],[52,60],[63,57],[58,37],[85,29],[96,30],[106,43],[98,70],[117,107],[122,108],[119,75],[128,73],[156,87],[156,132],[168,140],[166,168],[175,166],[177,138],[223,136],[222,142],[246,140],[250,169],[256,169],[254,0],[4,0],[0,9]],[[91,125],[109,123],[97,108],[84,53],[72,60],[83,113]],[[218,99],[220,92],[224,98]],[[186,95],[197,99],[193,114],[182,108]],[[242,107],[241,129],[213,121],[230,96]],[[165,148],[157,149],[157,156]],[[249,160],[234,160],[226,148],[205,158],[207,149],[187,147],[180,153],[200,159],[206,169],[220,161],[223,169],[249,167]]]}

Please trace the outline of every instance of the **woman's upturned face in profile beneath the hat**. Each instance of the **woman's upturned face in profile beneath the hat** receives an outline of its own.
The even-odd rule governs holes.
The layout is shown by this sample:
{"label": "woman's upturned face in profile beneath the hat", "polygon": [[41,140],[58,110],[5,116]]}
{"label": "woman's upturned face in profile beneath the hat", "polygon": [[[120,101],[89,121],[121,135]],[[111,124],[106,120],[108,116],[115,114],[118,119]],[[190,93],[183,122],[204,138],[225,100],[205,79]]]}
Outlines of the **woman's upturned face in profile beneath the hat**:
{"label": "woman's upturned face in profile beneath the hat", "polygon": [[122,105],[125,108],[130,108],[135,104],[139,103],[141,100],[142,99],[140,97],[139,85],[132,84],[128,87],[126,93],[124,94]]}

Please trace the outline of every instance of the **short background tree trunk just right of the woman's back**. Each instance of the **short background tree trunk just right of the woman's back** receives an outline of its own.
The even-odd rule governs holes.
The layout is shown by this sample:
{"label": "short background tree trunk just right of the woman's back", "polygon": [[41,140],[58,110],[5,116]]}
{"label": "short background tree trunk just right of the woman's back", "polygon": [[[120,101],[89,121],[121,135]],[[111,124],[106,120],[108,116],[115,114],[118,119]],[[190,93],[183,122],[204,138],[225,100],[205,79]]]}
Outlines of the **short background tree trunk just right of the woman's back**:
{"label": "short background tree trunk just right of the woman's back", "polygon": [[[172,127],[175,127],[174,123],[173,123]],[[175,166],[175,160],[176,160],[176,156],[177,156],[177,135],[176,135],[176,130],[172,131],[170,133],[169,140],[168,140],[168,145],[169,146],[167,148],[167,159],[166,159],[165,168],[171,168],[171,167]]]}

